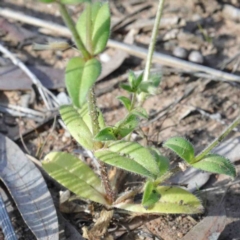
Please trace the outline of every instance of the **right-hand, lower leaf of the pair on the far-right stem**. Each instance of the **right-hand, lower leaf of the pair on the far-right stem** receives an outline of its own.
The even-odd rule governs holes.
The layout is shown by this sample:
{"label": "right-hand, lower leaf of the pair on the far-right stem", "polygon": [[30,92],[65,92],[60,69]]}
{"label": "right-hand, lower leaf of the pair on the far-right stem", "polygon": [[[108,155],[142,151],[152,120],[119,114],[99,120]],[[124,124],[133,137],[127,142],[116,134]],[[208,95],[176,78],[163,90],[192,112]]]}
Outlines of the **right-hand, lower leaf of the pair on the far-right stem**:
{"label": "right-hand, lower leaf of the pair on the far-right stem", "polygon": [[209,154],[200,161],[192,163],[191,166],[207,172],[225,174],[232,178],[236,177],[234,165],[225,157],[217,154]]}

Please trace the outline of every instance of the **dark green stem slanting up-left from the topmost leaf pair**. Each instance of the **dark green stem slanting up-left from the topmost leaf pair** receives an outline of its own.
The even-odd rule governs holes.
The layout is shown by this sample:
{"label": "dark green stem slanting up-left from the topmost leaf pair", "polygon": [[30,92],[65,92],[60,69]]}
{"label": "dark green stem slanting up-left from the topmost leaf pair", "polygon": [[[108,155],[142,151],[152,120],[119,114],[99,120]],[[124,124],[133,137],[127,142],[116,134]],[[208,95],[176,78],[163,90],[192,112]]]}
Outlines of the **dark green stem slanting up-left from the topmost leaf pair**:
{"label": "dark green stem slanting up-left from the topmost leaf pair", "polygon": [[65,7],[64,4],[58,2],[58,6],[59,6],[59,11],[61,13],[61,16],[65,22],[65,24],[67,25],[68,29],[71,31],[72,35],[73,35],[73,39],[74,42],[78,48],[78,50],[81,51],[83,57],[85,59],[89,59],[91,56],[89,54],[89,52],[87,51],[87,49],[85,48],[76,28],[75,28],[75,23],[73,22],[72,18],[70,17],[67,8]]}

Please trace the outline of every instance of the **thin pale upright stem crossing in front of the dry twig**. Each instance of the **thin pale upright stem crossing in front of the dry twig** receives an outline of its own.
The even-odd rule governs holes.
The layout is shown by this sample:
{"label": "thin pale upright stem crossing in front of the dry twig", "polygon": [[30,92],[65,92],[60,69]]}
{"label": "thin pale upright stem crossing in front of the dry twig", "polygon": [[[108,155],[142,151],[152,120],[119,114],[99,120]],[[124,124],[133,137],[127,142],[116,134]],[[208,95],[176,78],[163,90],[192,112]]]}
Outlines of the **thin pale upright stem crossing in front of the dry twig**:
{"label": "thin pale upright stem crossing in front of the dry twig", "polygon": [[[151,42],[150,42],[150,45],[148,48],[148,56],[147,56],[146,66],[144,69],[143,81],[148,81],[148,79],[149,79],[151,65],[152,65],[153,52],[154,52],[154,48],[155,48],[155,44],[156,44],[160,20],[162,17],[164,1],[165,0],[159,0],[159,3],[158,3],[157,15],[156,15],[154,26],[153,26]],[[143,104],[145,98],[146,98],[146,93],[142,93],[140,95],[140,106]]]}

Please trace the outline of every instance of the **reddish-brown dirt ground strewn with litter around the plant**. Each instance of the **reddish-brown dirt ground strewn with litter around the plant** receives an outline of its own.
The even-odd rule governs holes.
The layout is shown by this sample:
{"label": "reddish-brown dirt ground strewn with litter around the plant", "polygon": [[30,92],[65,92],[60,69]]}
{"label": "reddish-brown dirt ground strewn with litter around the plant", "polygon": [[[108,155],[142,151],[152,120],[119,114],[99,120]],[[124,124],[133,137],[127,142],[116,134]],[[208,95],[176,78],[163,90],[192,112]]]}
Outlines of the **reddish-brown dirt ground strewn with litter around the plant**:
{"label": "reddish-brown dirt ground strewn with litter around the plant", "polygon": [[[157,1],[153,0],[110,1],[112,12],[111,39],[124,41],[129,31],[134,29],[132,44],[147,48],[156,6]],[[63,25],[60,14],[53,4],[44,5],[36,0],[2,0],[0,7]],[[233,8],[239,11],[239,15],[234,15]],[[239,8],[240,3],[236,0],[165,1],[156,51],[176,56],[179,47],[181,47],[185,53],[183,58],[186,60],[192,60],[190,55],[195,51],[199,65],[239,75]],[[82,7],[71,6],[69,10],[76,19]],[[16,26],[17,30],[14,28]],[[76,50],[34,51],[32,44],[46,43],[48,40],[56,39],[70,41],[70,39],[61,35],[50,35],[46,30],[43,31],[31,23],[26,24],[11,18],[7,19],[6,22],[6,19],[1,16],[0,36],[0,43],[28,67],[47,67],[45,73],[49,74],[50,83],[45,82],[45,84],[51,85],[48,85],[48,88],[53,94],[57,96],[59,93],[65,92],[63,69],[67,60],[78,54]],[[111,58],[116,52],[116,49],[109,48],[105,55],[102,54],[101,59],[105,61],[104,57]],[[118,83],[127,80],[126,72],[128,69],[138,71],[143,69],[145,64],[145,59],[140,59],[134,54],[122,57],[123,62],[119,66],[115,66],[114,61],[105,64],[105,68],[109,67],[114,70],[99,80],[96,86],[99,96],[97,102],[109,125],[116,123],[125,114],[125,110],[116,96],[126,95],[126,93],[118,88]],[[77,151],[79,146],[54,121],[54,117],[51,115],[47,120],[38,120],[34,117],[12,116],[4,111],[2,107],[6,107],[7,104],[20,105],[43,112],[46,110],[39,94],[32,88],[24,74],[11,75],[11,72],[6,73],[5,70],[9,66],[12,66],[11,61],[5,58],[4,54],[0,55],[0,82],[1,76],[4,79],[9,79],[9,81],[5,81],[5,84],[3,81],[0,83],[0,132],[16,141],[24,152],[39,160],[52,150]],[[239,115],[239,82],[221,81],[221,79],[216,79],[211,75],[196,75],[188,69],[170,68],[157,63],[153,67],[162,72],[162,82],[159,93],[144,103],[144,107],[150,114],[150,120],[142,122],[141,126],[148,144],[160,149],[172,161],[175,161],[176,157],[162,148],[162,144],[168,138],[172,136],[185,137],[194,144],[196,152],[199,152]],[[3,76],[3,73],[9,75]],[[17,79],[14,79],[16,76]],[[42,76],[42,78],[44,77]],[[18,82],[16,83],[16,81]],[[12,84],[6,82],[12,82]],[[239,136],[239,129],[235,129],[228,138],[236,136]],[[239,171],[239,162],[236,161],[235,164],[237,171]],[[204,188],[221,186],[229,181],[223,176],[212,175]],[[60,186],[49,179],[47,184],[58,210],[62,212],[62,218],[67,219],[78,233],[82,234],[82,227],[93,225],[96,216],[78,211],[76,207],[79,205],[86,207],[85,203],[78,200],[74,201],[73,208],[67,206],[61,209],[58,204]],[[2,194],[7,192],[4,186],[1,188]],[[198,194],[206,209],[202,215],[133,217],[116,211],[109,226],[108,234],[112,237],[109,239],[184,239],[184,236],[209,214],[211,216],[221,215],[216,206],[223,197],[226,226],[221,231],[220,237],[214,239],[240,239],[240,185],[236,183],[220,192],[214,190],[201,192],[200,190]],[[8,204],[11,220],[17,229],[19,239],[35,239],[21,220],[21,215],[11,199]],[[69,238],[64,230],[65,220],[60,222],[61,239],[73,239]],[[3,235],[0,235],[0,239],[4,239]],[[197,240],[196,238],[192,239]]]}

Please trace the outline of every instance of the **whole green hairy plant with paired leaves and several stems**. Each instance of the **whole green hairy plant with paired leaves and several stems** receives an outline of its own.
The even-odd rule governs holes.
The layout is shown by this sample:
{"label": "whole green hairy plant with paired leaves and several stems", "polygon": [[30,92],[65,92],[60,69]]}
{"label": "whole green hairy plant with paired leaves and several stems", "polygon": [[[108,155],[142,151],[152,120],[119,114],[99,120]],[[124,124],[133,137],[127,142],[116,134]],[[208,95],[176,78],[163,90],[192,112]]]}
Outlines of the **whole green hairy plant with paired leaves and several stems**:
{"label": "whole green hairy plant with paired leaves and several stems", "polygon": [[[62,17],[71,30],[80,56],[70,59],[65,79],[72,105],[61,106],[60,114],[74,139],[85,149],[92,151],[99,161],[100,177],[86,163],[69,153],[52,152],[45,157],[43,168],[63,186],[83,199],[138,213],[200,213],[200,200],[192,193],[163,182],[179,168],[171,169],[169,160],[157,149],[130,141],[131,133],[139,127],[141,118],[147,118],[142,104],[147,96],[156,93],[160,84],[159,75],[150,75],[156,33],[163,9],[160,0],[158,15],[153,30],[147,66],[144,75],[129,71],[128,83],[122,84],[130,98],[120,96],[126,108],[124,119],[114,126],[106,126],[101,110],[96,105],[94,84],[101,73],[101,64],[96,55],[102,52],[110,35],[110,11],[107,3],[91,3],[83,0],[42,0],[56,2]],[[65,4],[86,2],[85,10],[76,25],[70,18]],[[219,138],[202,153],[195,155],[194,147],[184,138],[167,140],[164,147],[171,149],[187,166],[213,173],[235,177],[234,166],[226,158],[210,154],[210,151],[226,134],[239,123],[237,119]],[[106,165],[125,170],[146,178],[146,183],[120,195],[114,192],[114,181],[108,177]],[[142,202],[133,197],[143,193]]]}

